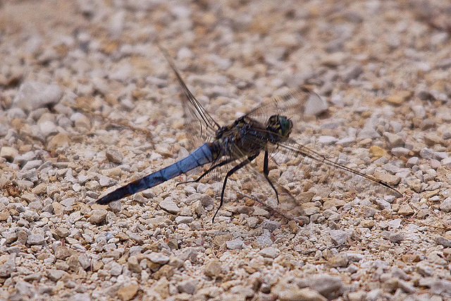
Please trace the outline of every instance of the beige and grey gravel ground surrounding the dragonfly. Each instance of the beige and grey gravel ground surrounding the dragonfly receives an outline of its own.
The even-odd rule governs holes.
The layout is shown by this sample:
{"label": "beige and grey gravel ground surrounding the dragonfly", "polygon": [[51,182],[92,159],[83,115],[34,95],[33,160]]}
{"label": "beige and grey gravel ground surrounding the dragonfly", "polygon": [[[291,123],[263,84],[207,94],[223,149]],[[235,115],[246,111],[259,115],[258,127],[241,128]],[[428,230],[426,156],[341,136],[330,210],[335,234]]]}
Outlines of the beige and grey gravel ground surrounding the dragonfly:
{"label": "beige and grey gravel ground surrounding the dragonfly", "polygon": [[[0,298],[449,300],[450,13],[440,0],[1,2]],[[214,185],[175,187],[185,176],[92,204],[192,150],[156,41],[221,122],[314,88],[328,111],[299,141],[383,171],[402,197],[306,200],[301,167],[285,165],[270,176],[302,196],[298,223],[232,196],[212,224]]]}

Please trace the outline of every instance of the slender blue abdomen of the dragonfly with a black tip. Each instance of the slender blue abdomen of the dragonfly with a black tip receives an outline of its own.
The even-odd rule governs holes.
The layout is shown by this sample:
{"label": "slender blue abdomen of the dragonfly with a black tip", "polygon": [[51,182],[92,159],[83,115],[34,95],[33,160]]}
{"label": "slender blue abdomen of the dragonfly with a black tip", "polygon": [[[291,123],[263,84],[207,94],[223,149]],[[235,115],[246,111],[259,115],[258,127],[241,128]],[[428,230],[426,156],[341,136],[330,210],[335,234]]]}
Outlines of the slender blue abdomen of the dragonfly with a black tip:
{"label": "slender blue abdomen of the dragonfly with a black tip", "polygon": [[216,157],[216,152],[212,152],[211,143],[204,143],[186,158],[110,192],[108,195],[98,199],[97,204],[108,204],[109,202],[128,197],[147,188],[152,188],[167,180],[171,180],[171,178],[180,176],[182,173],[186,173],[193,168],[211,163]]}

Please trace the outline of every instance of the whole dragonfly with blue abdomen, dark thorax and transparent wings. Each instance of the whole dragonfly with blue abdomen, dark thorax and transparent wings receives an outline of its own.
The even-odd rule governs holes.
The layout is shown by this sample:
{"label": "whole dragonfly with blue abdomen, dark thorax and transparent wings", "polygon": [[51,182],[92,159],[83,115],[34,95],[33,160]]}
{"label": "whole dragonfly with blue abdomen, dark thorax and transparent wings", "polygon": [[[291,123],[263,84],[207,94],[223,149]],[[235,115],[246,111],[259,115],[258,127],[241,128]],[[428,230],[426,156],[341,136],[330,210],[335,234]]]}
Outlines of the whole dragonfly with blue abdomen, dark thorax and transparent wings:
{"label": "whole dragonfly with blue abdomen, dark thorax and transparent wings", "polygon": [[262,179],[266,179],[276,195],[277,202],[279,202],[278,190],[268,176],[269,160],[276,161],[274,159],[276,156],[282,156],[285,159],[297,158],[301,160],[298,160],[298,163],[309,159],[309,161],[316,162],[318,166],[328,166],[340,171],[340,173],[349,174],[353,178],[357,178],[357,183],[365,182],[369,187],[384,188],[383,191],[392,192],[397,196],[401,195],[393,185],[355,168],[333,161],[333,159],[328,159],[327,156],[297,143],[290,137],[294,123],[289,114],[293,111],[302,114],[304,104],[321,101],[318,94],[309,89],[301,88],[281,97],[275,97],[270,102],[264,102],[256,109],[237,118],[233,123],[221,125],[190,92],[167,51],[159,48],[169,66],[171,66],[185,96],[183,97],[185,127],[193,139],[195,137],[195,141],[203,141],[204,143],[174,164],[134,180],[100,197],[97,200],[98,204],[109,204],[123,197],[152,188],[194,168],[209,164],[206,171],[192,182],[199,182],[211,173],[218,173],[218,171],[221,173],[221,171],[226,170],[220,189],[220,203],[212,219],[212,222],[214,222],[219,209],[223,206],[228,179],[241,168],[249,166],[260,154],[263,154]]}

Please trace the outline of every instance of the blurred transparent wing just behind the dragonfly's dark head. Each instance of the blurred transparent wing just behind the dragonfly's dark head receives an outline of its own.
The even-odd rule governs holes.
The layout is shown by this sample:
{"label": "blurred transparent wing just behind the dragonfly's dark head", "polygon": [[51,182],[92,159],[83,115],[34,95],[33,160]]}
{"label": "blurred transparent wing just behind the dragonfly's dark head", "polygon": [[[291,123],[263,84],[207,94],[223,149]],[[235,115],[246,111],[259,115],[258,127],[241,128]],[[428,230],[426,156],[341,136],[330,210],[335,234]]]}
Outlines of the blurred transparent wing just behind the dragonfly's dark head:
{"label": "blurred transparent wing just behind the dragonfly's dark head", "polygon": [[296,121],[302,116],[316,115],[326,109],[326,102],[318,94],[302,87],[280,97],[268,99],[256,109],[249,111],[246,116],[264,124],[275,114],[287,116]]}

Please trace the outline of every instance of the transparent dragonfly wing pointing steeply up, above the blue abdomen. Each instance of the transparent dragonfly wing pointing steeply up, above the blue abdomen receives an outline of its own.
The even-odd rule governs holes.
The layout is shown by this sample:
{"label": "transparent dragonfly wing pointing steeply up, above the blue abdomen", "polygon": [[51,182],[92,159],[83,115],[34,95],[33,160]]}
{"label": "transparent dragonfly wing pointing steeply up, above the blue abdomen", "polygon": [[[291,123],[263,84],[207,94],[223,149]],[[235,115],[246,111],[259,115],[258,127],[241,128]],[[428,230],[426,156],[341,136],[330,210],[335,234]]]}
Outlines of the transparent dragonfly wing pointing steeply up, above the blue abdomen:
{"label": "transparent dragonfly wing pointing steeply up, above the blue abdomen", "polygon": [[204,142],[211,141],[214,138],[214,133],[216,130],[221,128],[221,125],[219,125],[214,118],[210,116],[210,114],[190,92],[182,77],[178,73],[178,70],[175,68],[168,52],[162,47],[159,47],[159,49],[163,52],[166,60],[171,66],[171,69],[175,73],[175,77],[177,78],[180,87],[182,87],[183,94],[185,94],[186,98],[183,99],[182,102],[183,109],[185,110],[185,128],[187,134],[190,138],[192,138],[191,142],[193,147],[197,147]]}

